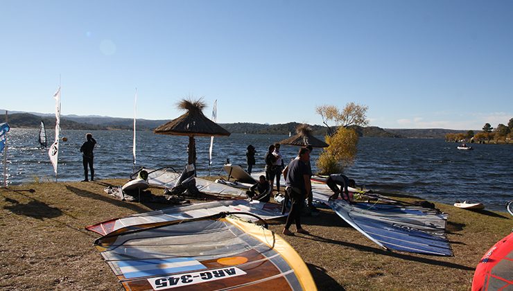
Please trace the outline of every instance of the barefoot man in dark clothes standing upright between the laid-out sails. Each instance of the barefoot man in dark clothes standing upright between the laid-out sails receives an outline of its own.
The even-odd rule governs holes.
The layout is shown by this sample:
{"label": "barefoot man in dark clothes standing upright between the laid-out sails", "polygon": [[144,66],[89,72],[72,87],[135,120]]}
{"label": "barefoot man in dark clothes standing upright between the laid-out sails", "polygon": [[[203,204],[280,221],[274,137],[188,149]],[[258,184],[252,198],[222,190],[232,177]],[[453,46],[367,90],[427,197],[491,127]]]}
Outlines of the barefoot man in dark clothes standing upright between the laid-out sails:
{"label": "barefoot man in dark clothes standing upright between the laid-out sails", "polygon": [[310,172],[307,163],[310,161],[310,151],[307,148],[299,149],[299,159],[293,159],[288,164],[286,175],[286,189],[292,206],[288,212],[287,221],[282,233],[286,236],[292,236],[293,232],[289,230],[290,225],[295,223],[296,232],[308,234],[301,226],[301,210],[304,200],[311,191]]}

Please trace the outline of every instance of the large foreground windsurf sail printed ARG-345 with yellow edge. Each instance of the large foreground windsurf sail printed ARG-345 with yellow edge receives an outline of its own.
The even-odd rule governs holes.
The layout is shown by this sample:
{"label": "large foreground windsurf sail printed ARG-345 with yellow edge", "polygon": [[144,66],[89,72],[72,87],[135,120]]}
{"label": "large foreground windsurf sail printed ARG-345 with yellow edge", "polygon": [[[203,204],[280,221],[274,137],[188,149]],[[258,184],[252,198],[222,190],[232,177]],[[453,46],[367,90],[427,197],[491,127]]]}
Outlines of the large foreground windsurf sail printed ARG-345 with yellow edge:
{"label": "large foreground windsurf sail printed ARG-345 with yellow edge", "polygon": [[317,290],[283,238],[226,213],[119,229],[95,245],[125,290]]}

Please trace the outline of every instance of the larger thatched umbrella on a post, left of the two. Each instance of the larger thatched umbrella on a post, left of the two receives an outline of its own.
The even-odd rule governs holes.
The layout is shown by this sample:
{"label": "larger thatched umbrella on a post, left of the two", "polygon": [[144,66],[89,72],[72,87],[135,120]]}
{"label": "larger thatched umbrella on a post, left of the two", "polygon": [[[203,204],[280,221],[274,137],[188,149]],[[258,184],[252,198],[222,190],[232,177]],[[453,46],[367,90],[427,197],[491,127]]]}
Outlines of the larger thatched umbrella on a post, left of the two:
{"label": "larger thatched umbrella on a post, left of the two", "polygon": [[229,136],[230,133],[203,115],[205,103],[200,100],[182,99],[177,104],[179,109],[186,110],[182,116],[155,128],[156,134],[189,136],[189,165],[195,164],[196,146],[194,136]]}

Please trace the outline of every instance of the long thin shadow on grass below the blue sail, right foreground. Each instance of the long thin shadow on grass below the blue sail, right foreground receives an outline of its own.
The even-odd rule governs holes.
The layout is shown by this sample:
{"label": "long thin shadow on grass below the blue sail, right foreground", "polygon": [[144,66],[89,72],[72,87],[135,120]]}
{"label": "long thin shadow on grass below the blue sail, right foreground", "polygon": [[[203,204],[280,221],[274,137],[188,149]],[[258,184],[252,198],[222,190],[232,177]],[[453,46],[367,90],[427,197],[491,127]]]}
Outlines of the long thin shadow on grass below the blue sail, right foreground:
{"label": "long thin shadow on grass below the blue sail, right foreground", "polygon": [[432,258],[421,258],[418,256],[412,256],[409,254],[394,253],[391,251],[386,251],[384,249],[378,249],[376,247],[367,247],[365,245],[358,245],[355,243],[346,243],[346,242],[342,242],[339,240],[331,240],[329,238],[323,238],[322,236],[309,235],[309,236],[302,236],[302,238],[305,238],[308,240],[319,241],[322,243],[331,243],[333,245],[343,245],[345,247],[352,247],[354,249],[358,249],[362,252],[372,252],[372,253],[381,254],[384,256],[392,256],[394,258],[400,258],[400,259],[406,260],[406,261],[415,261],[415,262],[424,263],[424,264],[438,265],[438,266],[442,266],[442,267],[451,267],[453,269],[466,270],[466,271],[473,271],[476,269],[475,267],[467,267],[467,266],[459,265],[459,264],[455,264],[455,263],[449,263],[449,262],[445,262],[445,261],[437,261]]}

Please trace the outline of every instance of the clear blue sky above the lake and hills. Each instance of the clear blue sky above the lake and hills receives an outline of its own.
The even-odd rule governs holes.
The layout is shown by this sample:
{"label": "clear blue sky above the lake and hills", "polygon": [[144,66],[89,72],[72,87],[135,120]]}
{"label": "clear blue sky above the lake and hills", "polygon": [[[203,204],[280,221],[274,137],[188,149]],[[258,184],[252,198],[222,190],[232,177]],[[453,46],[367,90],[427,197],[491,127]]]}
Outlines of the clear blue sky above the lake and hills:
{"label": "clear blue sky above the lake and hills", "polygon": [[386,128],[513,117],[513,1],[0,0],[1,109],[321,124],[369,107]]}

